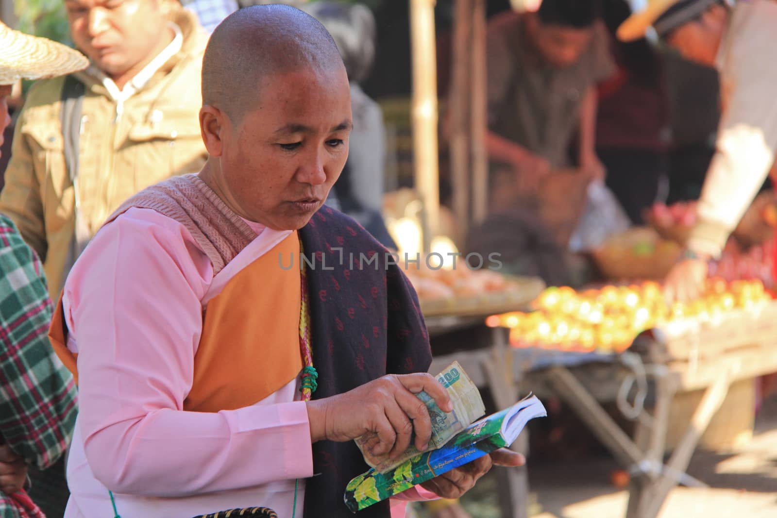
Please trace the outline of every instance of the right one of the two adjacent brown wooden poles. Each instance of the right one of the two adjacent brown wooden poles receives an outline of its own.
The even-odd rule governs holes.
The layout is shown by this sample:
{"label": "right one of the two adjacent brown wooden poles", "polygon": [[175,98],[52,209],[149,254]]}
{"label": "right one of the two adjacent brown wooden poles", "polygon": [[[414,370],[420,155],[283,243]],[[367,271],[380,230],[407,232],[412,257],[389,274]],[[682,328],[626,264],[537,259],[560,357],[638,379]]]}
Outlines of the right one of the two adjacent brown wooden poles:
{"label": "right one of the two adjacent brown wooden poles", "polygon": [[482,223],[488,213],[488,99],[486,79],[486,0],[474,0],[472,5],[472,206],[476,223]]}

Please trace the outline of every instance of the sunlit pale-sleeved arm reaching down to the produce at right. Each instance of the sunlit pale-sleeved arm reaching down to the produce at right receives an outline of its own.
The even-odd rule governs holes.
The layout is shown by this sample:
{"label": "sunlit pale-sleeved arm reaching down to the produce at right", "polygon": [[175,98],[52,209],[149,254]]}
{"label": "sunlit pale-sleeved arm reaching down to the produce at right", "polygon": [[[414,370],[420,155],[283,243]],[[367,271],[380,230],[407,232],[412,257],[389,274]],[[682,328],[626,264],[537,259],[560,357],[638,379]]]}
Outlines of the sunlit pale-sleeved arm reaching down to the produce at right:
{"label": "sunlit pale-sleeved arm reaching down to the produce at right", "polygon": [[773,45],[774,33],[764,29],[777,21],[774,13],[751,17],[754,26],[740,27],[732,46],[726,49],[721,72],[725,109],[716,152],[697,206],[697,223],[686,242],[688,257],[667,275],[668,301],[699,297],[709,259],[720,256],[775,162],[777,65],[765,63],[761,54],[752,52]]}

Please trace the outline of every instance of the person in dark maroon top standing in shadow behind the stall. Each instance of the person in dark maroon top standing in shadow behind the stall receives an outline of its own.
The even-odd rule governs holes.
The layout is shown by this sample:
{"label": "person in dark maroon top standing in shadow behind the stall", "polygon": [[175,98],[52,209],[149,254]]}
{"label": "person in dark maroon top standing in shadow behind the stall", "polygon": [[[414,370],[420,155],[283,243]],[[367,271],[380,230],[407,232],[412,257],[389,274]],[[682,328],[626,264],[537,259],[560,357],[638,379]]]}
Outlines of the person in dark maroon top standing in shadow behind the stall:
{"label": "person in dark maroon top standing in shadow behind the stall", "polygon": [[615,37],[631,12],[626,0],[602,2],[617,71],[598,86],[596,150],[607,186],[632,223],[643,224],[643,210],[657,201],[660,186],[667,189],[669,94],[658,51],[645,38]]}

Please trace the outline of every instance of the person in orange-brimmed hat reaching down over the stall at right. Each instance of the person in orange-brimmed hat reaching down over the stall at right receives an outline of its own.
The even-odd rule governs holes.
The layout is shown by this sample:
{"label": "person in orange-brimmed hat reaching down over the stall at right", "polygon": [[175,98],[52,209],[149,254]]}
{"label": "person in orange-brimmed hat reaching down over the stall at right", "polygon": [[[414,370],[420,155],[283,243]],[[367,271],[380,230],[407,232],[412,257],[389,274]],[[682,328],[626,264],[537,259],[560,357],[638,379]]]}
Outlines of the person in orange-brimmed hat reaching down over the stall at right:
{"label": "person in orange-brimmed hat reaching down over the stall at right", "polygon": [[652,0],[618,29],[621,40],[653,26],[689,60],[720,73],[721,120],[684,259],[667,276],[669,300],[699,297],[710,259],[767,179],[777,152],[777,2]]}

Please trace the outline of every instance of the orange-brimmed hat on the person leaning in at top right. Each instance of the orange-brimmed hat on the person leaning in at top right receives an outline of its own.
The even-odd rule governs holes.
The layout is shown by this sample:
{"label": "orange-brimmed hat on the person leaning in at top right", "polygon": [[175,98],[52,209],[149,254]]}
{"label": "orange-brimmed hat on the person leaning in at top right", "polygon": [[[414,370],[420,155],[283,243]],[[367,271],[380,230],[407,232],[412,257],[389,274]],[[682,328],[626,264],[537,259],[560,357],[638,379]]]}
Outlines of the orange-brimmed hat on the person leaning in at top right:
{"label": "orange-brimmed hat on the person leaning in at top right", "polygon": [[[618,40],[633,41],[644,37],[648,27],[657,22],[666,26],[681,25],[709,9],[717,0],[648,0],[647,7],[629,16],[618,27]],[[669,12],[672,9],[673,12]],[[658,27],[656,27],[658,29]]]}

